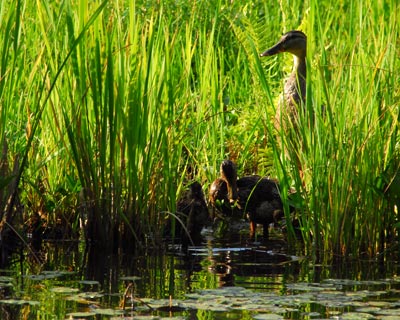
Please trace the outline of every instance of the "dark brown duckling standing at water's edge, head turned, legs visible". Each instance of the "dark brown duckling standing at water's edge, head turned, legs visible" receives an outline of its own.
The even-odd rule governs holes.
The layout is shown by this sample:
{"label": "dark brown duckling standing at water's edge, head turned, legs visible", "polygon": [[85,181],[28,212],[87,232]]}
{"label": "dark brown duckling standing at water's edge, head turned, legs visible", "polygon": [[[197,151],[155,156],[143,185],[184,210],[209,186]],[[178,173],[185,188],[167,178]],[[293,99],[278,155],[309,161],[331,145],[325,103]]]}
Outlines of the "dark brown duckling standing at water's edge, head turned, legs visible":
{"label": "dark brown duckling standing at water's edge, head turned, legs visible", "polygon": [[222,187],[218,193],[214,191],[211,196],[218,194],[227,199],[231,205],[237,203],[241,212],[247,213],[250,221],[250,236],[254,237],[256,225],[262,224],[263,237],[268,239],[268,226],[283,217],[283,205],[277,182],[258,175],[237,179],[236,165],[230,160],[222,162],[220,171],[221,177],[218,183]]}

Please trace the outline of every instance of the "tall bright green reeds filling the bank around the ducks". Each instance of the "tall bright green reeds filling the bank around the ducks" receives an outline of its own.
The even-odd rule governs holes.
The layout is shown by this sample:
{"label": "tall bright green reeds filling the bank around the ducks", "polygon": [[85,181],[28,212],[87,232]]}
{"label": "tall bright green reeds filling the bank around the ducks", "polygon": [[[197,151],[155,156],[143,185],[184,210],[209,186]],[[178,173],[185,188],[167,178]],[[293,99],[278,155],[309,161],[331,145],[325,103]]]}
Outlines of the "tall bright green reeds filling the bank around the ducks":
{"label": "tall bright green reeds filling the bank around the ducks", "polygon": [[[155,244],[185,184],[206,191],[229,157],[240,175],[280,180],[307,248],[380,251],[396,231],[385,191],[399,160],[397,9],[3,1],[0,138],[21,202],[72,232],[81,220],[110,247]],[[277,135],[292,58],[258,53],[297,28],[308,35],[306,111],[299,132]],[[13,176],[2,173],[1,191]]]}

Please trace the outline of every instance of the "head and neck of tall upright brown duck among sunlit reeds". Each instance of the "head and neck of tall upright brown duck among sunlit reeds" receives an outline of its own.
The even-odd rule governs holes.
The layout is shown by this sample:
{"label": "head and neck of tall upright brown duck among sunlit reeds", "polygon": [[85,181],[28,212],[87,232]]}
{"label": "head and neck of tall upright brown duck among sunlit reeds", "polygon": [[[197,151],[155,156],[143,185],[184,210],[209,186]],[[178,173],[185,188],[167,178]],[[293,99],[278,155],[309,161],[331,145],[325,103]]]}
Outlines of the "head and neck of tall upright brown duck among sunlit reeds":
{"label": "head and neck of tall upright brown duck among sunlit reeds", "polygon": [[306,100],[306,55],[307,36],[297,30],[285,33],[273,47],[260,54],[268,57],[289,52],[293,55],[293,70],[286,80],[283,101],[280,101],[275,114],[276,129],[286,129],[287,121],[296,127],[298,109],[305,105]]}

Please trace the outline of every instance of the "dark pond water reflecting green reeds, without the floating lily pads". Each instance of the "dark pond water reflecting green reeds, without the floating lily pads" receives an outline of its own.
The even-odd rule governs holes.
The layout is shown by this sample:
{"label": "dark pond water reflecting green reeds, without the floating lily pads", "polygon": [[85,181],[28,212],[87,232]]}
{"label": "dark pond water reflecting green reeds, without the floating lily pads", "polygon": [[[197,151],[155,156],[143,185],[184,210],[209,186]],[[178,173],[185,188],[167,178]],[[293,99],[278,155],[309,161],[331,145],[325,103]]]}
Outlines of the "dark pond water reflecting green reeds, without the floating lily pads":
{"label": "dark pond water reflecting green reeds, without the floating lily pads", "polygon": [[[26,314],[26,319],[34,319],[39,313],[54,316],[54,310],[57,310],[58,318],[66,318],[73,312],[93,312],[94,309],[98,312],[101,308],[121,311],[128,286],[130,294],[124,300],[125,314],[168,316],[171,313],[176,315],[175,311],[179,310],[178,315],[192,319],[225,318],[228,315],[239,319],[245,311],[211,310],[201,306],[201,299],[198,310],[182,311],[168,307],[169,299],[172,302],[184,301],[190,294],[199,292],[215,294],[208,290],[216,288],[225,288],[228,291],[222,292],[229,295],[232,294],[231,288],[235,287],[245,291],[233,295],[266,294],[267,298],[260,296],[258,299],[263,301],[272,297],[279,305],[278,297],[300,299],[304,298],[304,292],[311,290],[310,296],[314,300],[301,303],[297,311],[284,313],[286,318],[303,319],[313,312],[328,317],[334,314],[332,312],[340,314],[354,310],[345,304],[347,300],[340,307],[319,303],[320,290],[324,293],[320,295],[322,298],[331,291],[342,294],[373,292],[373,299],[376,299],[377,292],[383,292],[386,295],[379,296],[381,301],[400,297],[399,263],[395,251],[387,251],[373,261],[337,259],[330,265],[317,265],[302,252],[301,248],[295,251],[288,248],[282,237],[257,243],[241,235],[221,238],[209,234],[201,246],[189,247],[187,251],[182,251],[179,246],[166,245],[135,254],[120,252],[110,255],[105,255],[101,248],[86,247],[81,242],[43,242],[27,250],[25,256],[16,255],[10,267],[0,271],[0,318],[11,319],[11,314]],[[58,273],[52,273],[56,270]],[[61,294],[61,289],[53,291],[59,287],[68,288],[67,293]],[[77,296],[72,289],[81,295]],[[153,303],[146,300],[150,298],[160,303],[159,308],[149,310],[146,307],[146,304]],[[22,299],[36,301],[37,305],[27,305],[28,302],[8,304]],[[259,312],[250,312],[250,304],[243,308],[249,315]],[[282,314],[283,311],[278,308],[275,312]]]}

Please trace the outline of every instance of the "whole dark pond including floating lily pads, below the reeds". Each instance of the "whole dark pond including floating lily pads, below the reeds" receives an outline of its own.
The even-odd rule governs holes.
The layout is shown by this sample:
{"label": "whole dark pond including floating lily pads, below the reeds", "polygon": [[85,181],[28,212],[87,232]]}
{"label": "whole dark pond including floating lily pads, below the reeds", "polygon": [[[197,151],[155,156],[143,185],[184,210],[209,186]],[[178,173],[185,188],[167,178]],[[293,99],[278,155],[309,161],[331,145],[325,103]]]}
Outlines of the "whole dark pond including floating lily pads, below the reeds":
{"label": "whole dark pond including floating lily pads, below the reeds", "polygon": [[187,254],[86,249],[43,242],[14,255],[0,270],[0,319],[400,319],[397,252],[325,266],[274,233],[211,232]]}

